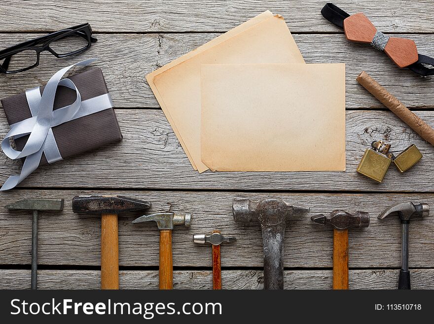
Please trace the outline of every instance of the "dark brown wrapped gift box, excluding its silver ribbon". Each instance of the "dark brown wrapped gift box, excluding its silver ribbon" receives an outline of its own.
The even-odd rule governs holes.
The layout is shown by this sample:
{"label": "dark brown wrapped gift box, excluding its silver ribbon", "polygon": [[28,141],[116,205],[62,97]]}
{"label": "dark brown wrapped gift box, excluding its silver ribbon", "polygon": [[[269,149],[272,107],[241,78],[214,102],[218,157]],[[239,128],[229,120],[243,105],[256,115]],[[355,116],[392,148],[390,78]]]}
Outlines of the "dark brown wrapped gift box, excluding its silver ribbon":
{"label": "dark brown wrapped gift box, excluding its silver ribbon", "polygon": [[[81,101],[109,93],[101,69],[96,68],[68,77],[74,82]],[[40,88],[42,93],[44,87]],[[71,105],[76,99],[75,91],[59,86],[54,100],[54,110]],[[4,113],[9,125],[32,117],[26,94],[2,99]],[[52,128],[62,158],[80,154],[99,146],[120,141],[122,134],[113,108],[80,117]],[[16,148],[22,150],[29,136],[15,140]],[[48,164],[42,154],[39,165]]]}

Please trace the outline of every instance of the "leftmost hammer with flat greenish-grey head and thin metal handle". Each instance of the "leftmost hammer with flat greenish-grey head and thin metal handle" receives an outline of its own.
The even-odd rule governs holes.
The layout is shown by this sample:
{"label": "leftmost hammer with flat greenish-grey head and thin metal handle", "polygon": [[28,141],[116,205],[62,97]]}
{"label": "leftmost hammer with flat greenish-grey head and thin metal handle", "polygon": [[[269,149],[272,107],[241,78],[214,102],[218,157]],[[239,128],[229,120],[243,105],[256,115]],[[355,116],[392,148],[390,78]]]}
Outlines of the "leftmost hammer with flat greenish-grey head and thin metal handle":
{"label": "leftmost hammer with flat greenish-grey head and thin metal handle", "polygon": [[33,211],[32,221],[32,289],[37,287],[37,214],[38,211],[62,211],[63,199],[22,199],[6,205],[7,209]]}

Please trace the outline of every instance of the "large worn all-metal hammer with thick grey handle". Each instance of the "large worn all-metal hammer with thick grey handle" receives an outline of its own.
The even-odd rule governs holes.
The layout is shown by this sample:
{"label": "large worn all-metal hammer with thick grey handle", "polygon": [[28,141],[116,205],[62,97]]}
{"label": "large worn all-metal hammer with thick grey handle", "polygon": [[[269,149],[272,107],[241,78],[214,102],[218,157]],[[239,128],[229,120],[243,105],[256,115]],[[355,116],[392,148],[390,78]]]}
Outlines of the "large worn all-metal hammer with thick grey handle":
{"label": "large worn all-metal hammer with thick grey handle", "polygon": [[288,205],[281,198],[238,199],[233,202],[232,213],[236,222],[258,222],[261,225],[265,289],[283,289],[286,220],[308,212],[309,208]]}

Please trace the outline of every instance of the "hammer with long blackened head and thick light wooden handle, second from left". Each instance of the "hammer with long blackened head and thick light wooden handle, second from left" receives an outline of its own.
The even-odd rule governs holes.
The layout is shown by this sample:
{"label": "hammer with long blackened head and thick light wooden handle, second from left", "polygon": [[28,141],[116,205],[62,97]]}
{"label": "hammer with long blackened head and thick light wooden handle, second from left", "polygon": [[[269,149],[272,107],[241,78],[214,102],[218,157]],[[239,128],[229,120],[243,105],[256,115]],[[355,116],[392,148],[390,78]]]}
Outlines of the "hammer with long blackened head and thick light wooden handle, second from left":
{"label": "hammer with long blackened head and thick light wooden handle, second from left", "polygon": [[72,211],[101,214],[101,289],[119,289],[119,233],[117,215],[148,209],[147,201],[122,196],[75,196]]}

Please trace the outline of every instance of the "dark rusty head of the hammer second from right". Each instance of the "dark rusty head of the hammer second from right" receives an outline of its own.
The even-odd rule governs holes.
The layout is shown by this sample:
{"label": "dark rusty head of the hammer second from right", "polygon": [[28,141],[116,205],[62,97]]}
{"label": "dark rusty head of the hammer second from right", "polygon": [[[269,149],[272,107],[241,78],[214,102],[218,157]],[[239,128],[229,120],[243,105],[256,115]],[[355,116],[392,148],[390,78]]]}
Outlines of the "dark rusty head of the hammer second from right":
{"label": "dark rusty head of the hammer second from right", "polygon": [[344,230],[369,226],[369,213],[356,212],[350,214],[344,211],[333,211],[327,215],[312,216],[311,220],[321,225],[331,225],[336,229]]}

